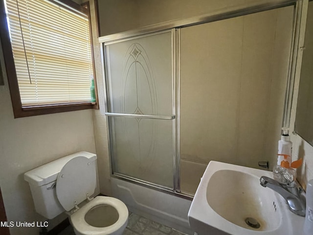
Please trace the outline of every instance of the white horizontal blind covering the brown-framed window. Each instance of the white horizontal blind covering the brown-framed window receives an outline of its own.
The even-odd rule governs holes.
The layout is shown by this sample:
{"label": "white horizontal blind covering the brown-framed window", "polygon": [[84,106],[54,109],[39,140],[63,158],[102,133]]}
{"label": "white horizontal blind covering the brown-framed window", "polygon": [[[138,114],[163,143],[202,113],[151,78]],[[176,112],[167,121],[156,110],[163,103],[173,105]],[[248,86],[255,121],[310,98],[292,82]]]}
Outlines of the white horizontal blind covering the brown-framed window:
{"label": "white horizontal blind covering the brown-framed window", "polygon": [[22,106],[90,102],[89,21],[47,0],[5,0]]}

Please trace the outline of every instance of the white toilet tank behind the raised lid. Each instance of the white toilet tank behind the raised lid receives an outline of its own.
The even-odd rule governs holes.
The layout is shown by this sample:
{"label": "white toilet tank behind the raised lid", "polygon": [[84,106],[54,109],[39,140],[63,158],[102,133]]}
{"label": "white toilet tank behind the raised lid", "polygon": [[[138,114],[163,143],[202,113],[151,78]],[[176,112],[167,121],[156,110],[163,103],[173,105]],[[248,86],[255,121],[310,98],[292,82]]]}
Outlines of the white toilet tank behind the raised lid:
{"label": "white toilet tank behind the raised lid", "polygon": [[56,181],[63,166],[69,160],[80,156],[88,158],[96,171],[97,156],[89,152],[78,152],[24,173],[24,180],[29,183],[33,196],[35,210],[45,218],[52,219],[65,211],[56,195]]}

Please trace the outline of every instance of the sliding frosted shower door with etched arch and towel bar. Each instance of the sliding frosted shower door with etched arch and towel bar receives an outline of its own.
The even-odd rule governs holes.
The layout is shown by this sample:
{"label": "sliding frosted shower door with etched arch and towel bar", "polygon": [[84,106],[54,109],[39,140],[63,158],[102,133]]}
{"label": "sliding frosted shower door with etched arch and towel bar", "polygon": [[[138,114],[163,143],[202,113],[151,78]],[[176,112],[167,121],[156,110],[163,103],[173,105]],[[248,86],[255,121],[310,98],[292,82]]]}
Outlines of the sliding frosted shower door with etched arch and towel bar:
{"label": "sliding frosted shower door with etched arch and towel bar", "polygon": [[113,175],[173,189],[172,30],[105,44]]}

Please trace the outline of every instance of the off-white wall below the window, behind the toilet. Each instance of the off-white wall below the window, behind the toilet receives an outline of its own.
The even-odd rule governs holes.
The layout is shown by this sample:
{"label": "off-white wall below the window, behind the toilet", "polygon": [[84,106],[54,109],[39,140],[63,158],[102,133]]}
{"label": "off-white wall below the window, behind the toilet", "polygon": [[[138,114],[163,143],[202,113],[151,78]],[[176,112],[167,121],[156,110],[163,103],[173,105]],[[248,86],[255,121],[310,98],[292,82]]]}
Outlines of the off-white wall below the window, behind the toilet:
{"label": "off-white wall below the window, behind the toilet", "polygon": [[[5,68],[2,49],[0,61]],[[7,219],[45,221],[35,212],[23,173],[74,152],[95,153],[92,110],[14,119],[6,74],[4,83],[0,86],[0,188]],[[63,214],[49,221],[48,229],[65,218]],[[34,235],[39,234],[39,228],[13,227],[10,232]]]}

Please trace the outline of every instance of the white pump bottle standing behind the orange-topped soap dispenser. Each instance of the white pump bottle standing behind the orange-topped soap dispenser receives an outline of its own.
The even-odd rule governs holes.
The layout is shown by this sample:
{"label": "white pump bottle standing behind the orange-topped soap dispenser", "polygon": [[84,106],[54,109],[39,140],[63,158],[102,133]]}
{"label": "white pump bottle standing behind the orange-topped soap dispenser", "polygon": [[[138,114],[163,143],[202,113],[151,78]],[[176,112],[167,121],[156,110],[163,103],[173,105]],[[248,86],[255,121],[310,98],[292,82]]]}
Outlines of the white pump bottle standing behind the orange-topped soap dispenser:
{"label": "white pump bottle standing behind the orange-topped soap dispenser", "polygon": [[289,129],[282,128],[283,133],[281,135],[280,141],[278,141],[278,158],[277,165],[280,165],[284,161],[284,155],[288,155],[287,161],[291,164],[292,156],[292,142],[290,141]]}

